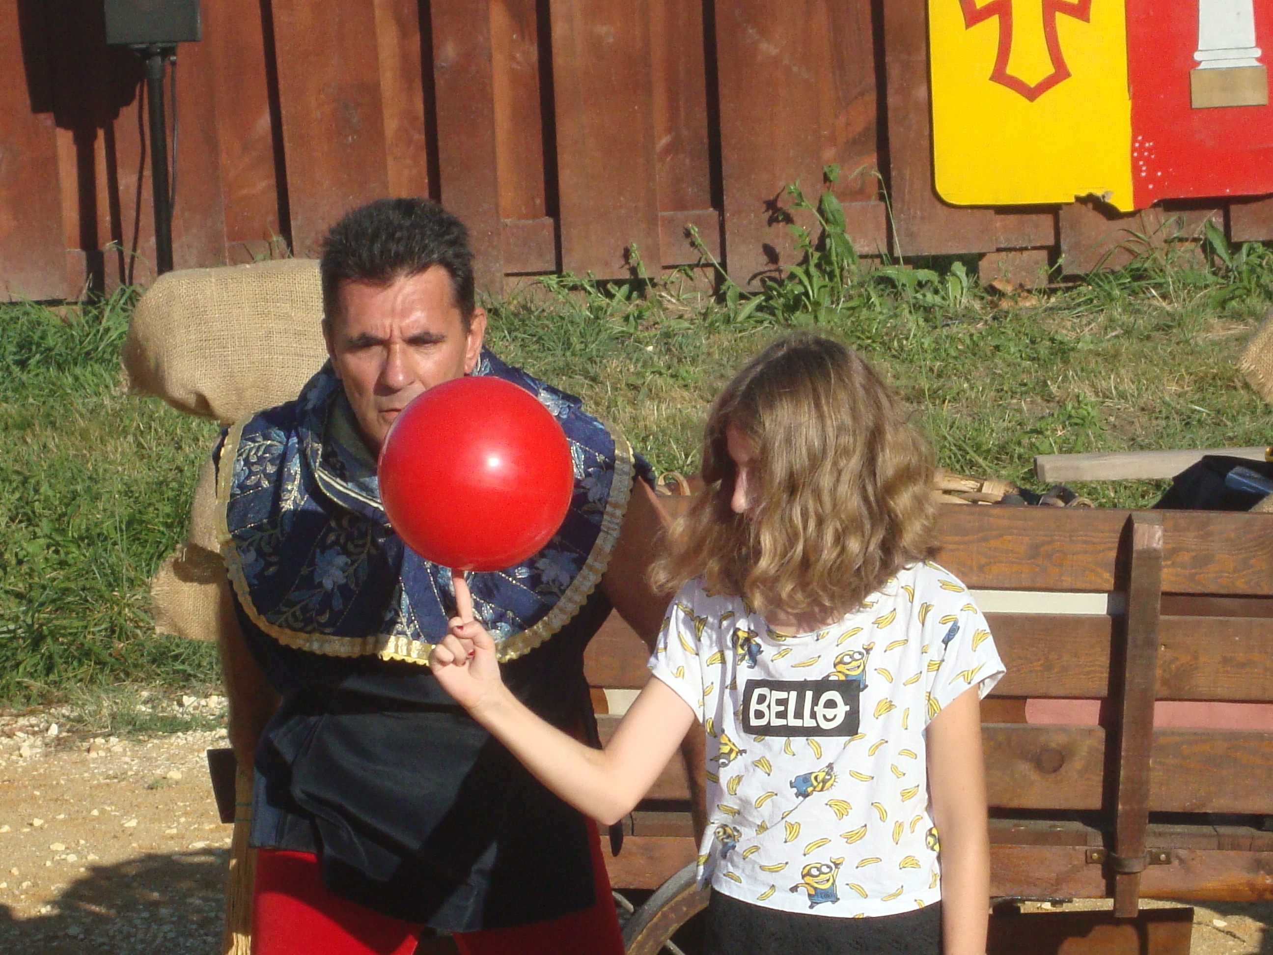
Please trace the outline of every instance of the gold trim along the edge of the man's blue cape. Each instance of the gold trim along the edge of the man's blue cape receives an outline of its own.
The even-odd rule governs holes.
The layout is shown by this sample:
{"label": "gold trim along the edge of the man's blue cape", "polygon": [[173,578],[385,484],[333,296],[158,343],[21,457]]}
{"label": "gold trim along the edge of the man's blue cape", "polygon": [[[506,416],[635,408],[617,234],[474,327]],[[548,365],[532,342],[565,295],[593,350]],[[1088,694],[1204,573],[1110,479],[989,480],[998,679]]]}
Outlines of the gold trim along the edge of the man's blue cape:
{"label": "gold trim along the edge of the man's blue cape", "polygon": [[[434,644],[426,640],[416,640],[393,634],[335,637],[331,634],[302,633],[271,624],[257,611],[248,592],[247,578],[243,577],[243,567],[228,522],[230,488],[234,483],[234,461],[238,458],[239,441],[243,437],[243,427],[248,420],[251,419],[239,421],[227,433],[219,462],[227,462],[229,466],[219,463],[216,469],[216,532],[222,545],[222,556],[225,560],[227,576],[234,586],[234,592],[248,619],[264,633],[293,649],[304,649],[328,657],[377,656],[381,660],[402,660],[428,666],[429,653],[433,651]],[[633,449],[628,438],[617,428],[612,428],[608,424],[605,427],[615,442],[615,476],[610,484],[610,498],[606,500],[606,511],[601,517],[601,530],[597,532],[597,540],[593,542],[592,551],[584,560],[583,568],[580,568],[579,573],[570,582],[570,586],[565,588],[561,598],[545,614],[544,619],[528,629],[500,640],[496,656],[502,663],[530,653],[570,623],[588,597],[592,596],[592,592],[601,582],[602,574],[605,574],[606,568],[610,565],[610,558],[614,555],[615,544],[619,541],[619,530],[622,526],[624,514],[628,512],[628,502],[631,497],[634,467]],[[230,452],[228,457],[227,451]]]}

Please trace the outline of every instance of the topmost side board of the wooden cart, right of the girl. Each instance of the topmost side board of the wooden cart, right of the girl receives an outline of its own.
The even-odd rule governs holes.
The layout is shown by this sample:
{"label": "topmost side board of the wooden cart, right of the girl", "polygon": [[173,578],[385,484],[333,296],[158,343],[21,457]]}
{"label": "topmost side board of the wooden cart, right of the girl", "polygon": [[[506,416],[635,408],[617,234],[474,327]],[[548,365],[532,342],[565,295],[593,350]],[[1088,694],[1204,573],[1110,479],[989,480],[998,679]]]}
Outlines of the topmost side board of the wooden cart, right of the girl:
{"label": "topmost side board of the wooden cart, right of the girl", "polygon": [[[970,587],[1111,591],[1127,511],[943,508],[938,560]],[[1273,522],[1264,514],[1165,511],[1162,588],[1273,596]]]}

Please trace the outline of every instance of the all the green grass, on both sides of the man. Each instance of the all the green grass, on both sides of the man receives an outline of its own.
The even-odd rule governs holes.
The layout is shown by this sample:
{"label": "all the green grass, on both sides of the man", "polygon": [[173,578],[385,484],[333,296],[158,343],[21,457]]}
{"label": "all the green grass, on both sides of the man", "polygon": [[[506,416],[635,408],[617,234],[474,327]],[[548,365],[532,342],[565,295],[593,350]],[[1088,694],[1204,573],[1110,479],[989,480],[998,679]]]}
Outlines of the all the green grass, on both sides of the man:
{"label": "all the green grass, on both sides of the man", "polygon": [[[676,276],[554,278],[493,304],[489,343],[586,399],[659,471],[696,470],[708,401],[796,326],[859,348],[914,409],[939,462],[962,474],[1037,489],[1037,453],[1273,441],[1268,405],[1234,368],[1273,301],[1268,247],[1230,248],[1216,233],[1200,248],[1129,237],[1142,255],[1125,269],[1001,295],[964,260],[867,269],[833,201],[791,199],[821,225],[803,236],[806,267],[759,295],[727,281],[715,297],[681,294],[693,283]],[[121,393],[130,304],[121,294],[57,313],[0,306],[0,705],[79,699],[102,711],[87,722],[112,726],[132,719],[137,688],[216,679],[211,647],[154,635],[146,596],[183,536],[216,428]],[[1074,489],[1146,506],[1162,488]]]}

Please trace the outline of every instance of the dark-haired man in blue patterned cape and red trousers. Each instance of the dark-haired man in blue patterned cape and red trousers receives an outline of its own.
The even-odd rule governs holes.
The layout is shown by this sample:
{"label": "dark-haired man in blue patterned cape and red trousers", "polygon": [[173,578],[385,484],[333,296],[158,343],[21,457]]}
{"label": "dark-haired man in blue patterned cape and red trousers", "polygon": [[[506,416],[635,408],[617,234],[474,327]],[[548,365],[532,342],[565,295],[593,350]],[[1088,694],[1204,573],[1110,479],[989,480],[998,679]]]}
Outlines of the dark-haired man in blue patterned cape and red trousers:
{"label": "dark-haired man in blue patterned cape and red trousers", "polygon": [[468,574],[475,615],[540,716],[592,725],[583,649],[616,607],[652,638],[648,466],[560,392],[484,350],[463,224],[395,199],[323,243],[330,362],[295,401],[218,446],[229,582],[230,739],[255,760],[257,955],[416,950],[619,955],[596,826],[458,709],[428,668],[456,614],[451,574],[384,517],[376,456],[411,399],[463,374],[535,395],[570,442],[569,513],[538,554]]}

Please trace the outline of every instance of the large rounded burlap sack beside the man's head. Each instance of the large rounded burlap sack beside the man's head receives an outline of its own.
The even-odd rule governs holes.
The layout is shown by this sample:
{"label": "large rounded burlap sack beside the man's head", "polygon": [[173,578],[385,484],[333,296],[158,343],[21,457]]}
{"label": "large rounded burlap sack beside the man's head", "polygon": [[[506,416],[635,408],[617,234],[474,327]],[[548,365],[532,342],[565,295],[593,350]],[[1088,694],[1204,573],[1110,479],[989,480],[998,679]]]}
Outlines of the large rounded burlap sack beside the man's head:
{"label": "large rounded burlap sack beside the man's head", "polygon": [[297,396],[327,358],[321,322],[312,258],[168,272],[132,313],[129,392],[232,424]]}

